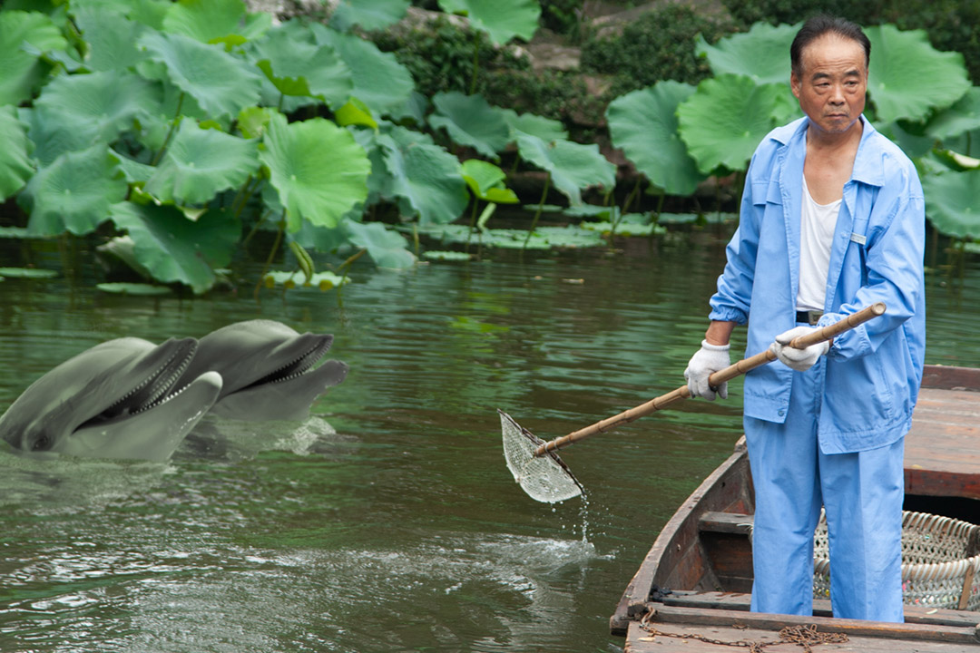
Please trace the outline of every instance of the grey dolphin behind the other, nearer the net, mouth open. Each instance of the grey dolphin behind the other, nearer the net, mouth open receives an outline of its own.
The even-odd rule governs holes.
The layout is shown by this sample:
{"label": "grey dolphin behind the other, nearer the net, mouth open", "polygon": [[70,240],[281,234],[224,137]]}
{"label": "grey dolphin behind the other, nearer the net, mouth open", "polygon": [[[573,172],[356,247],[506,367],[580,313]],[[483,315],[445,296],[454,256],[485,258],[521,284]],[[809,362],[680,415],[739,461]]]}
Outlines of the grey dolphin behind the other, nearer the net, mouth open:
{"label": "grey dolphin behind the other, nearer the net, mouth open", "polygon": [[347,365],[315,365],[333,344],[329,334],[305,333],[274,320],[235,322],[201,338],[181,382],[208,371],[221,374],[211,413],[246,420],[300,420],[314,400],[347,376]]}

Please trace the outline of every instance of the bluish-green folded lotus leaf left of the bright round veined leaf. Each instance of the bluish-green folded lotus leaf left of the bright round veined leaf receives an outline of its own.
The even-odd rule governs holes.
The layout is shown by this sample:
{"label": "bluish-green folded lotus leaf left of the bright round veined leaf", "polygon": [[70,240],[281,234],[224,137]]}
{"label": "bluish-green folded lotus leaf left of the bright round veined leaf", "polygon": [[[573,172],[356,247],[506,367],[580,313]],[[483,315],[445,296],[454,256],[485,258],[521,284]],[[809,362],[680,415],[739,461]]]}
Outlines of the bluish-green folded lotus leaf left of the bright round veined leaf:
{"label": "bluish-green folded lotus leaf left of the bright round veined leaf", "polygon": [[613,145],[671,195],[690,195],[705,178],[677,133],[677,107],[694,91],[690,84],[659,81],[616,98],[606,110]]}

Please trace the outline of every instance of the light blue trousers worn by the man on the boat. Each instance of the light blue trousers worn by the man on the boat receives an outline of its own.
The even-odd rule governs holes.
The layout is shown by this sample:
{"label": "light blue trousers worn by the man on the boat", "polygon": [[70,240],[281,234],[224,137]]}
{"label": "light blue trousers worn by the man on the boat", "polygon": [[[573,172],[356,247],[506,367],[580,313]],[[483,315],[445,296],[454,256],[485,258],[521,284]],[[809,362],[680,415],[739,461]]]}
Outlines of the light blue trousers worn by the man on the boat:
{"label": "light blue trousers worn by the man on the boat", "polygon": [[812,614],[813,531],[823,505],[834,616],[902,622],[905,438],[858,453],[820,452],[823,364],[794,372],[785,424],[745,418],[756,490],[752,609]]}

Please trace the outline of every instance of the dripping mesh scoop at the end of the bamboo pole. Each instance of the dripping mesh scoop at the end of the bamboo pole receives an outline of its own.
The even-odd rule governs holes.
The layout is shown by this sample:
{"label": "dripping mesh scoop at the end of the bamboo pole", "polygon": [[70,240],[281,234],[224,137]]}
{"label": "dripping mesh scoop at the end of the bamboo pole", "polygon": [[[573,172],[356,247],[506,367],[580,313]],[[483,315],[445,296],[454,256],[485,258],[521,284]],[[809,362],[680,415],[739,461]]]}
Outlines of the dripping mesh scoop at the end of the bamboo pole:
{"label": "dripping mesh scoop at the end of the bamboo pole", "polygon": [[584,489],[555,451],[535,456],[544,441],[517,424],[503,410],[500,425],[504,434],[504,457],[514,480],[535,501],[555,503],[581,494]]}

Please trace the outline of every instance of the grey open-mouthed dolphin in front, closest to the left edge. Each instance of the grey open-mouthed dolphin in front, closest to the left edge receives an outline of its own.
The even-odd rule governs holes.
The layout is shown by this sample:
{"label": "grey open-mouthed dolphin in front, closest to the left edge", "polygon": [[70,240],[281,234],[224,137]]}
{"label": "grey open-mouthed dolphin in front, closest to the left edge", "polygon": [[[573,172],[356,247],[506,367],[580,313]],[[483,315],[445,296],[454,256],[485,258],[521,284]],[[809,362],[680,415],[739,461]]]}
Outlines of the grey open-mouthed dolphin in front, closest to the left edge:
{"label": "grey open-mouthed dolphin in front, closest to the left edge", "polygon": [[120,338],[40,377],[0,417],[0,439],[25,451],[163,462],[221,392],[221,375],[183,374],[193,338]]}

